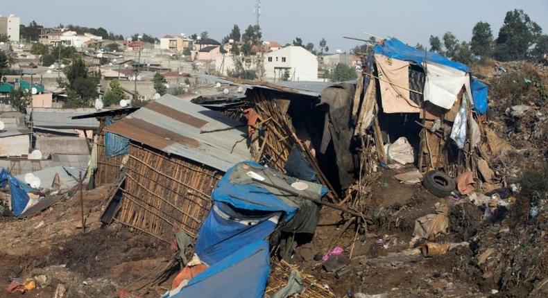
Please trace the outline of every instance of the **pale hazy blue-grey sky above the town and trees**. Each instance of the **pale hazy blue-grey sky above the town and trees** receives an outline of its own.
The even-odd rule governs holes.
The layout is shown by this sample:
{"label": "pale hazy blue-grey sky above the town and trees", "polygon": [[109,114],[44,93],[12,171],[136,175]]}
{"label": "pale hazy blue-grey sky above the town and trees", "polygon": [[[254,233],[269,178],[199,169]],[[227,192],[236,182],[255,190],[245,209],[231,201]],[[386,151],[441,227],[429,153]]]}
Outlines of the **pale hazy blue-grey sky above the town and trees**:
{"label": "pale hazy blue-grey sky above the town and trees", "polygon": [[[238,24],[255,23],[255,0],[24,0],[6,1],[0,15],[15,14],[24,24],[78,24],[106,28],[117,34],[149,33],[157,37],[200,33],[221,40]],[[428,44],[431,34],[449,30],[470,40],[477,21],[487,21],[497,37],[506,11],[523,9],[548,33],[548,0],[262,0],[263,39],[281,44],[301,37],[317,47],[322,37],[330,51],[348,51],[367,39],[364,32]]]}

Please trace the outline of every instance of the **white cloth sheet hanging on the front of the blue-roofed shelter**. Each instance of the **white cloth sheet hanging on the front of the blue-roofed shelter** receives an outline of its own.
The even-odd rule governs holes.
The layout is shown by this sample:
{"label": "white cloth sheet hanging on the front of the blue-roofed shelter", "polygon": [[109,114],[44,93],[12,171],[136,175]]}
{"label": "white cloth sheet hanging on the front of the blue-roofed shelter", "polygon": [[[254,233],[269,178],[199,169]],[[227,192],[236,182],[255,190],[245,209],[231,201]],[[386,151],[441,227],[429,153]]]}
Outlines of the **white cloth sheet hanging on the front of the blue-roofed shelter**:
{"label": "white cloth sheet hanging on the front of the blue-roofed shelter", "polygon": [[[467,80],[470,85],[468,73],[436,63],[428,63],[424,67],[427,68],[423,92],[425,101],[444,109],[451,109]],[[470,89],[467,92],[470,92]]]}

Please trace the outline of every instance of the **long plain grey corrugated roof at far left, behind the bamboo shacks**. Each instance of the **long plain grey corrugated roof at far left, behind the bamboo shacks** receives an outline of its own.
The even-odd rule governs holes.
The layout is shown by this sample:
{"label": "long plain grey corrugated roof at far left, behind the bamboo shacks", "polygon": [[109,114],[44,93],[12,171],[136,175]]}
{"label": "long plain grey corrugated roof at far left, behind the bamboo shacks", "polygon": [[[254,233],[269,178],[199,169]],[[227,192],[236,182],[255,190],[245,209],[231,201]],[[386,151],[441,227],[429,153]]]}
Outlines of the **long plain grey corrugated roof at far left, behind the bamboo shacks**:
{"label": "long plain grey corrugated roof at far left, behind the bamboo shacks", "polygon": [[39,108],[27,110],[27,116],[32,113],[33,125],[42,128],[99,128],[99,121],[94,118],[72,119],[74,116],[81,116],[97,112],[96,109],[52,109]]}

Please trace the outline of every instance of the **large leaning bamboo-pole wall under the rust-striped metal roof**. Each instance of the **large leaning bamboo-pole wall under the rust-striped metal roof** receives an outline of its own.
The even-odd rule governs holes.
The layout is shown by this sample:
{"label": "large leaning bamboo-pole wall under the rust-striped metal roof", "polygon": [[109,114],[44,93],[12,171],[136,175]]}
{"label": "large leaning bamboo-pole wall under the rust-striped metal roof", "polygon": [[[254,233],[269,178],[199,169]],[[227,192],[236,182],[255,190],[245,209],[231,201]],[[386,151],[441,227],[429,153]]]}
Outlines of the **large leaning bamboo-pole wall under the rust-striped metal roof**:
{"label": "large leaning bamboo-pole wall under the rust-striped metal roof", "polygon": [[222,175],[194,161],[131,143],[121,207],[114,220],[166,243],[171,242],[173,226],[195,238]]}

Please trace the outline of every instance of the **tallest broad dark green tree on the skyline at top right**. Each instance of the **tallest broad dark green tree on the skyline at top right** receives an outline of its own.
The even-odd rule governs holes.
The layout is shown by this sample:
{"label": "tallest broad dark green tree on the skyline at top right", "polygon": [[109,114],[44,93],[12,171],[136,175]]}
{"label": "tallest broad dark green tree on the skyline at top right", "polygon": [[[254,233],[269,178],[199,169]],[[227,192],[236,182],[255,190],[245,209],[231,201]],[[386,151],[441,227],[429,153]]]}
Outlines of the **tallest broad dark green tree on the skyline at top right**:
{"label": "tallest broad dark green tree on the skyline at top right", "polygon": [[511,61],[527,58],[528,51],[536,43],[542,29],[523,10],[506,12],[504,24],[495,41],[494,56],[497,60]]}

